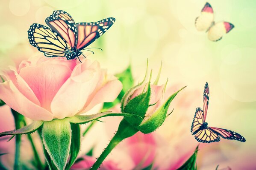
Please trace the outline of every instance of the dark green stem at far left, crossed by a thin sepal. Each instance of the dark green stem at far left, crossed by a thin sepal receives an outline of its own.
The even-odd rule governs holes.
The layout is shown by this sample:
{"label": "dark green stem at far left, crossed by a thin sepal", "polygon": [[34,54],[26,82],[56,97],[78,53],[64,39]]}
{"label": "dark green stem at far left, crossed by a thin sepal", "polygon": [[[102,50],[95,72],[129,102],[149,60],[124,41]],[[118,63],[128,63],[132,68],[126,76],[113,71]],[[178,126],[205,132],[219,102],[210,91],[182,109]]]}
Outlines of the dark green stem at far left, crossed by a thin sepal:
{"label": "dark green stem at far left, crossed by a thin sepal", "polygon": [[[24,116],[22,116],[20,113],[16,112],[15,110],[11,109],[12,115],[14,117],[15,121],[15,128],[20,129],[24,126]],[[16,135],[15,139],[15,160],[14,160],[14,170],[20,170],[21,169],[21,161],[20,161],[20,152],[21,152],[21,135]]]}

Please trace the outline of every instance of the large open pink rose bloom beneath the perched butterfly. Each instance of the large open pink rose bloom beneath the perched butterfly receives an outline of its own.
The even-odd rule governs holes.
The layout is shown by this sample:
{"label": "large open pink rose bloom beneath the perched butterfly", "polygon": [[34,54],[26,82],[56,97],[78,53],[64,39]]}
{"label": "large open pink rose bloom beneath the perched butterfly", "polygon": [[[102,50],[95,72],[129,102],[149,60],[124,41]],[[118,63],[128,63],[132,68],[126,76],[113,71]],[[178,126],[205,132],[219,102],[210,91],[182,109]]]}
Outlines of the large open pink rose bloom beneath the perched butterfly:
{"label": "large open pink rose bloom beneath the perched butterfly", "polygon": [[89,59],[31,57],[1,73],[0,99],[33,120],[50,121],[85,113],[112,102],[122,89],[116,77]]}

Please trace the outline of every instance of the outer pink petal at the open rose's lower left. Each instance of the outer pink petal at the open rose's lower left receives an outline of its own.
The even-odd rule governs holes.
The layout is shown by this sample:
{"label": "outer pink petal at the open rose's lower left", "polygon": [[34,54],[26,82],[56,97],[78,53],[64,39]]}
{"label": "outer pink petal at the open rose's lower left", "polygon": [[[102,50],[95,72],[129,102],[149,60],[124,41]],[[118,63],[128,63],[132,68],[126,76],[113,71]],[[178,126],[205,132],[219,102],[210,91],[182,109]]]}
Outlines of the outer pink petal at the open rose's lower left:
{"label": "outer pink petal at the open rose's lower left", "polygon": [[2,99],[6,105],[9,105],[12,109],[29,119],[45,121],[53,119],[52,113],[27,99],[15,87],[12,81],[0,83],[0,99]]}

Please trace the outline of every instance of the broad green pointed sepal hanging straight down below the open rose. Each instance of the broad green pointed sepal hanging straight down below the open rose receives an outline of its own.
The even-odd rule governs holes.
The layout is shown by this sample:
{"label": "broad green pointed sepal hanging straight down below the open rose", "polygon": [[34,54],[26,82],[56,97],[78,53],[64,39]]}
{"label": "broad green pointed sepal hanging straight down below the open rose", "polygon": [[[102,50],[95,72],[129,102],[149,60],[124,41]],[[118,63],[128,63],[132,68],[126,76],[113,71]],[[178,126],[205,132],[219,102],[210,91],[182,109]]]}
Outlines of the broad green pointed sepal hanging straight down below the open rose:
{"label": "broad green pointed sepal hanging straight down below the open rose", "polygon": [[71,125],[68,119],[53,119],[44,122],[42,139],[45,150],[58,168],[64,170],[71,147]]}

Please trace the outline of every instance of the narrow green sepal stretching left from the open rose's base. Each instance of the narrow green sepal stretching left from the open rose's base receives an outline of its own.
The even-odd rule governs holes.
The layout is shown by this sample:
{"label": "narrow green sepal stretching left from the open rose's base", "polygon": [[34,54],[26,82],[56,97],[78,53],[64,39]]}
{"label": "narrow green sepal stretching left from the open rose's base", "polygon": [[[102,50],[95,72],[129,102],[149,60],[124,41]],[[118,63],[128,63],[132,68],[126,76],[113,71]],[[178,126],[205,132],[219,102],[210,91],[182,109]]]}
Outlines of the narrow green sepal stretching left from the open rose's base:
{"label": "narrow green sepal stretching left from the open rose's base", "polygon": [[30,125],[22,127],[20,129],[2,132],[0,133],[0,137],[6,136],[6,135],[22,135],[27,133],[33,133],[36,130],[38,130],[38,128],[41,127],[43,123],[44,123],[43,121],[34,121]]}

